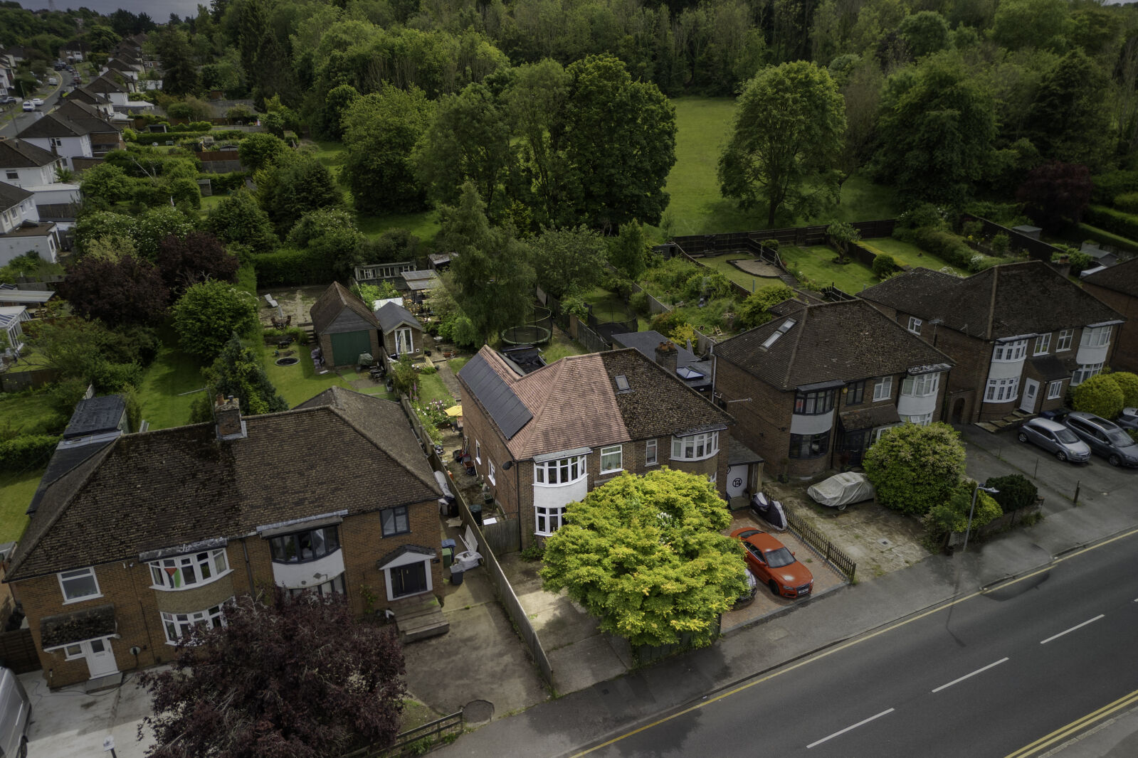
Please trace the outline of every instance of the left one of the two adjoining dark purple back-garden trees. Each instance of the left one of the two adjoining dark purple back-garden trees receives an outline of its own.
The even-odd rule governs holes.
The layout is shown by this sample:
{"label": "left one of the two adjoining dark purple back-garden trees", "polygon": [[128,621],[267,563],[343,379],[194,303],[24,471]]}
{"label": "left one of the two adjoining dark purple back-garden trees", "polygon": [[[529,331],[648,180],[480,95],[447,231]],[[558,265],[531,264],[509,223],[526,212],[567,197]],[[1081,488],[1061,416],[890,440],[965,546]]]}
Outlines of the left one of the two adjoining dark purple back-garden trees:
{"label": "left one of the two adjoining dark purple back-garden trees", "polygon": [[110,326],[156,324],[166,313],[170,291],[150,261],[84,256],[67,272],[63,295],[72,309]]}

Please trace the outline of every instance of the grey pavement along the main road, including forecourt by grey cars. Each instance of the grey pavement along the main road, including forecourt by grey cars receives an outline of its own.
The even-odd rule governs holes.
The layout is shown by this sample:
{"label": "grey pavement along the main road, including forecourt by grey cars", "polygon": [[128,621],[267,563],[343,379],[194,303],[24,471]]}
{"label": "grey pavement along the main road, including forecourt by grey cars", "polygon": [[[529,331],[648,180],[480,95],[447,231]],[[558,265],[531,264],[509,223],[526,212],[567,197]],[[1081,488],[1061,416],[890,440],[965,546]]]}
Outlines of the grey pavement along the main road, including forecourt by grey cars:
{"label": "grey pavement along the main road, including forecourt by grey cars", "polygon": [[[1019,470],[1038,477],[1037,485],[1046,498],[1044,520],[973,543],[975,547],[970,545],[964,555],[932,556],[908,568],[811,599],[794,613],[729,633],[711,648],[493,722],[463,735],[438,755],[572,755],[584,745],[651,723],[717,690],[954,597],[1046,566],[1054,556],[1138,525],[1138,472],[1112,469],[1099,460],[1083,468],[1062,468],[1058,461],[1047,459],[1039,461],[1036,474],[1036,456],[1019,447],[1011,435],[991,435],[981,430],[973,434],[968,428],[962,432],[968,447],[970,475],[987,478]],[[1086,497],[1080,497],[1083,505],[1077,508],[1064,493],[1073,493],[1074,482],[1082,477],[1091,486]],[[1138,719],[1120,723],[1138,727]],[[1120,730],[1124,731],[1124,726],[1115,726],[1100,739],[1129,744],[1129,733]]]}

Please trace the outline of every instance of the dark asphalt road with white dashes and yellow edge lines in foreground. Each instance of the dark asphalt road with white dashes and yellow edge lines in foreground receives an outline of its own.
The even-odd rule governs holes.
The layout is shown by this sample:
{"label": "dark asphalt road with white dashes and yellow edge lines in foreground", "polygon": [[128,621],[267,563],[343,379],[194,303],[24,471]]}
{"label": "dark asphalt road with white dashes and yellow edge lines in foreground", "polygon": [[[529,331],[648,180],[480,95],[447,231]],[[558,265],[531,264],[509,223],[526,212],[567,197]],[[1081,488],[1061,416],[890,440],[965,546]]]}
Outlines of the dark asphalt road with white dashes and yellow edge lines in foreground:
{"label": "dark asphalt road with white dashes and yellow edge lines in foreground", "polygon": [[1136,549],[1073,553],[578,755],[1040,755],[1055,743],[1020,751],[1136,692]]}

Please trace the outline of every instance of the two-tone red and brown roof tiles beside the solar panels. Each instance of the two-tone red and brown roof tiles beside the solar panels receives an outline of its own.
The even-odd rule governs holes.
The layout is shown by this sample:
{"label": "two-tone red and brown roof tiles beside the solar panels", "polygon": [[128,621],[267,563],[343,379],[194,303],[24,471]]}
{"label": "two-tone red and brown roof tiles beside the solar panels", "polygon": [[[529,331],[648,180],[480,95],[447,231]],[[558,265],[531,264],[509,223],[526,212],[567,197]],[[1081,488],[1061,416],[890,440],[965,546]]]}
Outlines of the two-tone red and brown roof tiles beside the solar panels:
{"label": "two-tone red and brown roof tiles beside the solar panels", "polygon": [[[533,414],[506,442],[518,460],[578,447],[723,428],[732,420],[632,348],[567,356],[521,377],[488,347],[479,356]],[[617,392],[617,375],[628,378],[632,392]],[[467,390],[471,401],[481,406],[477,394]]]}

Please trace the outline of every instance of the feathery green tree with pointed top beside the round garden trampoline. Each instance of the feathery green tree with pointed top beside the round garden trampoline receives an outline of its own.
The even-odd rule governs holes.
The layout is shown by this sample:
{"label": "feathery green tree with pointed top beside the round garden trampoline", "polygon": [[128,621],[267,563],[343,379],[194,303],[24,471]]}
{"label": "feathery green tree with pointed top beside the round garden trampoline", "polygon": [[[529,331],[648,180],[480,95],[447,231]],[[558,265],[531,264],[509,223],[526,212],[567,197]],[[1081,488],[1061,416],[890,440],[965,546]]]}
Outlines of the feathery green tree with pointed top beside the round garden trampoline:
{"label": "feathery green tree with pointed top beside the round garden trampoline", "polygon": [[455,300],[477,333],[487,338],[521,323],[536,278],[529,248],[511,227],[490,227],[486,203],[470,182],[456,207],[439,209],[439,220],[442,247],[459,253],[451,264]]}

